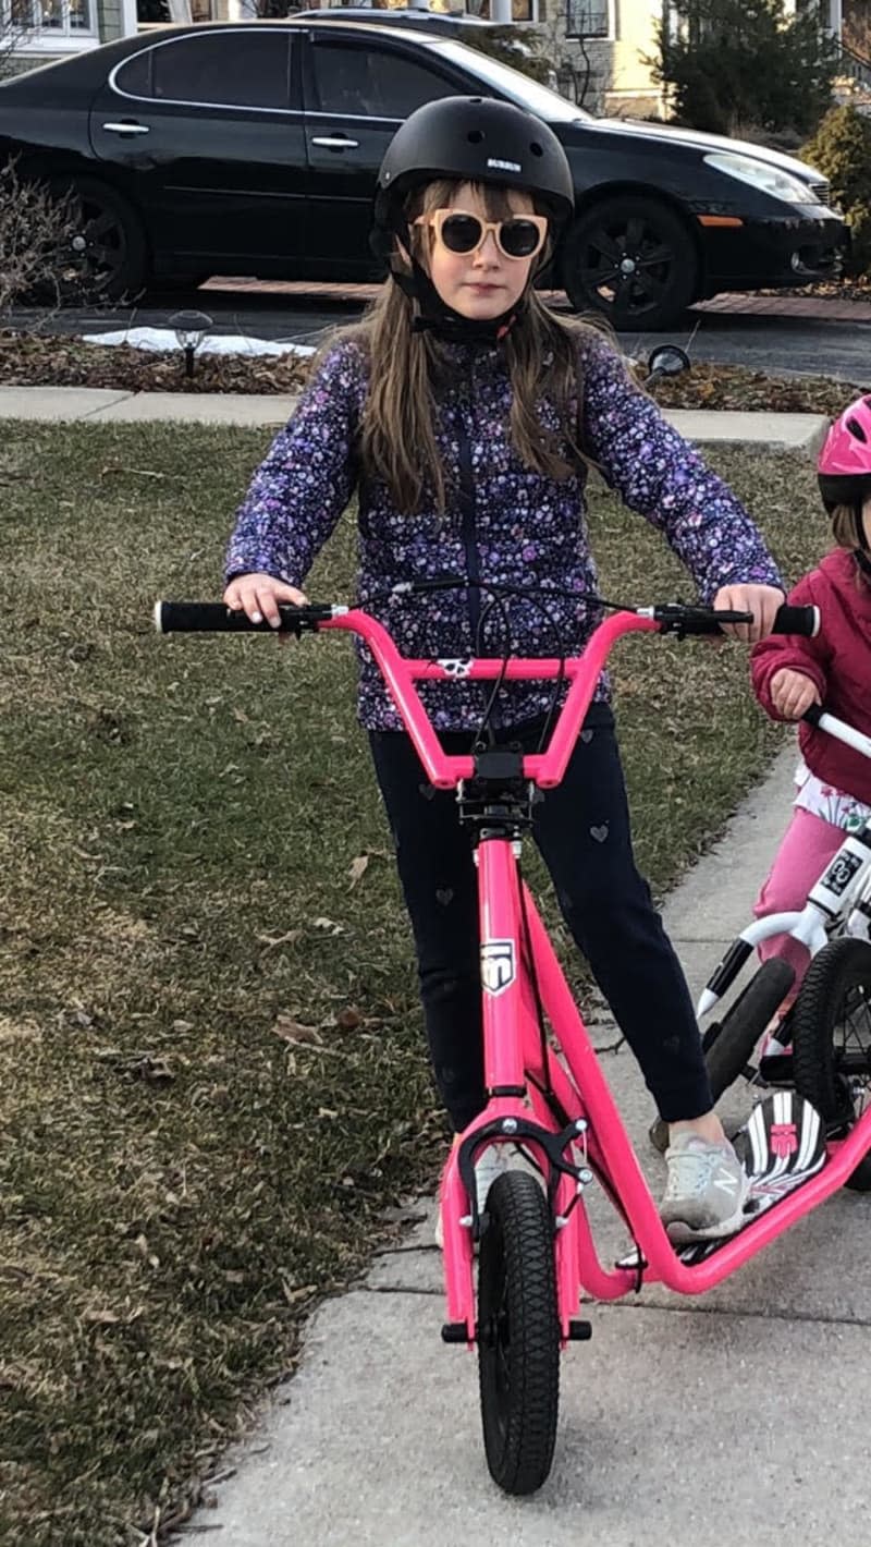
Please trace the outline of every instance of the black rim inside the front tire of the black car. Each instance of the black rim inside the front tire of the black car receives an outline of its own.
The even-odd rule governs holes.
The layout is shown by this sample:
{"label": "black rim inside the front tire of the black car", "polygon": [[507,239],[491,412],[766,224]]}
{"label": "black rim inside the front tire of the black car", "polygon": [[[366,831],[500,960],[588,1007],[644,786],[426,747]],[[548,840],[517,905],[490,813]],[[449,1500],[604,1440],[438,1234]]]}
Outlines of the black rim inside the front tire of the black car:
{"label": "black rim inside the front tire of the black car", "polygon": [[633,215],[593,227],[580,252],[580,278],[613,311],[644,317],[665,300],[675,261],[673,246],[653,221]]}

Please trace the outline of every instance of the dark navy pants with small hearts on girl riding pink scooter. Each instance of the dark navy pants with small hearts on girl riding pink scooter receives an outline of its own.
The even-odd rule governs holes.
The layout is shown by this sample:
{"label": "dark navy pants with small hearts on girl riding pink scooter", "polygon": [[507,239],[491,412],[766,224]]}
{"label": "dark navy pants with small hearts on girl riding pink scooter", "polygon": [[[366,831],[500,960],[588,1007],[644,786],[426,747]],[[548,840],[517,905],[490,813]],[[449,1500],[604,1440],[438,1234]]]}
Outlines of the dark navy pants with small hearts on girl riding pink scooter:
{"label": "dark navy pants with small hearts on girl riding pink scooter", "polygon": [[[538,727],[504,732],[526,752]],[[442,735],[469,752],[470,735]],[[455,1129],[484,1106],[476,873],[453,791],[435,791],[404,732],[370,732],[412,919],[435,1077]],[[681,964],[633,857],[611,710],[594,704],[563,783],[532,828],[572,939],[589,962],[667,1122],[712,1108]]]}

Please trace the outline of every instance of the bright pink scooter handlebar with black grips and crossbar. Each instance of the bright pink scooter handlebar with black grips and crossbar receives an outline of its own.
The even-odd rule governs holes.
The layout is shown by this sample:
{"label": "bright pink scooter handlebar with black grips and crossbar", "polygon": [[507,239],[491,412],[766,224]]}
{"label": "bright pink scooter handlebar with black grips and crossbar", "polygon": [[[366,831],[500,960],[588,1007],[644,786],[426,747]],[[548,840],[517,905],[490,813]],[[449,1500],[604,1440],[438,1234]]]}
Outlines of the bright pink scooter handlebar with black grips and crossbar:
{"label": "bright pink scooter handlebar with black grips and crossbar", "polygon": [[[444,752],[441,741],[421,702],[415,682],[419,681],[552,681],[565,679],[569,684],[565,702],[554,721],[554,730],[546,752],[528,753],[521,760],[521,775],[541,789],[558,784],[566,770],[569,756],[577,741],[583,716],[593,699],[596,682],[608,659],[611,645],[630,633],[662,633],[662,634],[712,634],[721,631],[721,623],[749,623],[749,613],[719,611],[713,614],[710,608],[682,606],[668,603],[650,608],[627,608],[614,613],[593,630],[582,656],[566,659],[526,659],[526,657],[480,657],[480,659],[442,659],[442,661],[412,661],[401,656],[390,633],[362,610],[316,603],[308,606],[278,605],[282,617],[280,630],[269,623],[252,623],[244,613],[232,611],[223,602],[158,602],[155,605],[155,627],[158,633],[300,633],[302,630],[320,631],[331,628],[348,630],[359,634],[371,651],[387,690],[396,710],[415,743],[418,756],[424,766],[427,778],[436,789],[455,789],[463,780],[469,780],[476,772],[473,755],[456,756]],[[818,628],[818,611],[814,606],[795,608],[781,606],[775,631],[815,634]]]}

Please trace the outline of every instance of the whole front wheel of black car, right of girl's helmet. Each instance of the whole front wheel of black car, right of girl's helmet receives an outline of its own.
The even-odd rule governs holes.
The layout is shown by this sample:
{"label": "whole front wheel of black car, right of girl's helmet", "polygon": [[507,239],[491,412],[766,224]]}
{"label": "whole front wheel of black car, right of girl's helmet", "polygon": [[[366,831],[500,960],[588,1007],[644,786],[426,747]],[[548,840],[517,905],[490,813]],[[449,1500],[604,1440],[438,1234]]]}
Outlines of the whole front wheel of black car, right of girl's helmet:
{"label": "whole front wheel of black car, right of girl's helmet", "polygon": [[562,263],[576,311],[603,312],[628,331],[678,322],[696,299],[698,272],[696,246],[681,217],[636,193],[614,193],[579,215]]}

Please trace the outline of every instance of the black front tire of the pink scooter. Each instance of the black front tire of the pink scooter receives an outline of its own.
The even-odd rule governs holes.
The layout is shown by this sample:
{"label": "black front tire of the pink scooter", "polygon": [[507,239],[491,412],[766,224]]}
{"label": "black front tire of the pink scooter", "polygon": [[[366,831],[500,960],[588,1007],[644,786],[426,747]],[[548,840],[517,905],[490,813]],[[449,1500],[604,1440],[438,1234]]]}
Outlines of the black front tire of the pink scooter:
{"label": "black front tire of the pink scooter", "polygon": [[535,1493],[554,1459],[560,1323],[554,1222],[535,1177],[504,1171],[487,1202],[478,1258],[478,1378],[490,1477]]}

